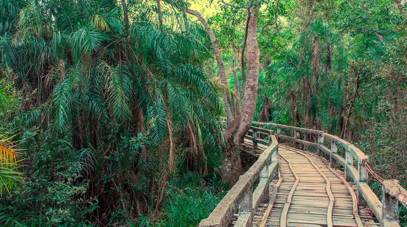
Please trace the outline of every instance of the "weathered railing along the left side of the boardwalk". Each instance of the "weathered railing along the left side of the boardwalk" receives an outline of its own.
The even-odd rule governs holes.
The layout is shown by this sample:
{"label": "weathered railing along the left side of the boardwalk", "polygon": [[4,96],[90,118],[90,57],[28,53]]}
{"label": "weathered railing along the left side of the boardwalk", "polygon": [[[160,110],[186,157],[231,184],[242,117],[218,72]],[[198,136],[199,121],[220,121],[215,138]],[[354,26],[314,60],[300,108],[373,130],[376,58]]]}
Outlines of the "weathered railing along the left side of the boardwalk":
{"label": "weathered railing along the left side of the boardwalk", "polygon": [[[257,134],[252,128],[253,135]],[[274,173],[278,172],[278,143],[271,130],[269,132],[269,147],[261,153],[249,170],[240,176],[239,181],[227,192],[208,218],[200,221],[199,226],[228,226],[239,212],[238,225],[251,226],[253,214],[260,203],[269,200],[269,183]],[[255,142],[254,142],[255,143]],[[254,183],[258,184],[254,189]]]}

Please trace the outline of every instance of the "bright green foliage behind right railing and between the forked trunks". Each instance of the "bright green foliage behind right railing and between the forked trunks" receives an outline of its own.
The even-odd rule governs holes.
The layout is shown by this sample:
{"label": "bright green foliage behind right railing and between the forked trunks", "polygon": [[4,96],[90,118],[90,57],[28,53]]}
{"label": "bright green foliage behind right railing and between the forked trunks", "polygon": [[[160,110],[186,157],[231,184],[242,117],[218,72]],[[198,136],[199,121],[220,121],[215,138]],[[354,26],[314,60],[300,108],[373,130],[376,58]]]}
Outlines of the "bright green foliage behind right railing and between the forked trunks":
{"label": "bright green foliage behind right railing and between the forked trunks", "polygon": [[[266,1],[258,22],[263,70],[255,119],[338,135],[369,154],[380,176],[407,186],[404,4]],[[224,6],[211,18],[230,69],[239,62],[244,16],[245,9]],[[380,196],[380,183],[371,181]],[[405,222],[407,211],[399,212]]]}

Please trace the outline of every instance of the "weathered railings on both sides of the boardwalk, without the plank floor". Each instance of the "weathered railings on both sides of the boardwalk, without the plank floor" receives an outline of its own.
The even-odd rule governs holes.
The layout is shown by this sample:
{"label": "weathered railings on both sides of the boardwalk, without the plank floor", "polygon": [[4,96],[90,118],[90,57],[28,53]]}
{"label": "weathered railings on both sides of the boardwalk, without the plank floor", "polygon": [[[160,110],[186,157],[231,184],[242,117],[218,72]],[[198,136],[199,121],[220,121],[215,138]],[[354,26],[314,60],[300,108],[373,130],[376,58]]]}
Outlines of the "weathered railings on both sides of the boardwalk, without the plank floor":
{"label": "weathered railings on both sides of the boardwalk, without the plank floor", "polygon": [[[253,122],[252,125],[248,133],[251,135],[245,138],[252,140],[254,149],[257,144],[269,147],[199,226],[228,226],[235,213],[239,213],[235,226],[251,226],[253,212],[258,204],[268,200],[269,181],[278,169],[277,149],[281,140],[292,141],[294,147],[302,144],[315,148],[318,156],[329,159],[331,167],[338,167],[339,164],[344,169],[346,180],[353,181],[358,188],[358,205],[367,205],[381,226],[400,226],[398,202],[407,207],[407,191],[397,180],[384,181],[381,202],[368,185],[369,156],[357,147],[319,130],[263,122]],[[271,129],[276,129],[276,133]],[[261,139],[261,134],[269,140]],[[309,141],[312,139],[315,141]],[[259,183],[253,190],[257,180]]]}

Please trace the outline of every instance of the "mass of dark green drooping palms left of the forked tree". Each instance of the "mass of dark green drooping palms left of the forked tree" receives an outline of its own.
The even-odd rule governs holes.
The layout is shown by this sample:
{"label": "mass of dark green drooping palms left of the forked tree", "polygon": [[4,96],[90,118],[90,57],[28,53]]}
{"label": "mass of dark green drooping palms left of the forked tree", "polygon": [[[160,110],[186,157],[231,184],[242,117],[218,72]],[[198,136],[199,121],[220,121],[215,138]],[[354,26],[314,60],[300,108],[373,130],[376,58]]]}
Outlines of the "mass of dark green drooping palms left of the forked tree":
{"label": "mass of dark green drooping palms left of the forked tree", "polygon": [[199,67],[210,57],[199,27],[159,24],[145,3],[129,3],[129,24],[114,1],[1,6],[0,135],[5,149],[14,135],[24,176],[13,160],[2,170],[1,225],[137,224],[162,208],[171,177],[210,179],[222,108]]}

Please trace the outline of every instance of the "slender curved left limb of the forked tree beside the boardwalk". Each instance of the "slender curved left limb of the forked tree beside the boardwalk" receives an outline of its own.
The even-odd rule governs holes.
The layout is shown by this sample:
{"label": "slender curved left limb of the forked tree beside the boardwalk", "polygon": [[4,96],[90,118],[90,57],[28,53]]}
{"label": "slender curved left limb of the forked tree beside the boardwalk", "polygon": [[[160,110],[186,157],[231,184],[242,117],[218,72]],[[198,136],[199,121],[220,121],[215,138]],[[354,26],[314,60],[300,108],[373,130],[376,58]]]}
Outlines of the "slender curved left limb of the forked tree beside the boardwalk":
{"label": "slender curved left limb of the forked tree beside the boardwalk", "polygon": [[[227,77],[226,77],[225,66],[223,65],[223,61],[222,61],[222,58],[220,56],[220,50],[219,50],[218,42],[216,41],[215,35],[213,34],[212,29],[209,26],[208,21],[206,21],[205,18],[203,18],[202,15],[196,10],[190,10],[190,9],[184,9],[184,10],[185,10],[186,13],[195,16],[202,23],[202,25],[205,27],[205,29],[206,29],[206,31],[207,31],[207,33],[209,35],[209,38],[211,39],[211,42],[212,42],[213,52],[215,54],[216,63],[218,64],[218,68],[219,68],[220,81],[227,88]],[[235,118],[234,118],[233,112],[232,112],[230,96],[226,91],[223,92],[223,99],[225,101],[226,117],[227,117],[227,122],[229,124],[229,122],[233,122],[235,120]]]}

